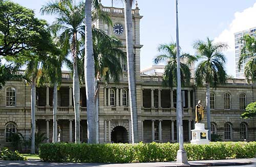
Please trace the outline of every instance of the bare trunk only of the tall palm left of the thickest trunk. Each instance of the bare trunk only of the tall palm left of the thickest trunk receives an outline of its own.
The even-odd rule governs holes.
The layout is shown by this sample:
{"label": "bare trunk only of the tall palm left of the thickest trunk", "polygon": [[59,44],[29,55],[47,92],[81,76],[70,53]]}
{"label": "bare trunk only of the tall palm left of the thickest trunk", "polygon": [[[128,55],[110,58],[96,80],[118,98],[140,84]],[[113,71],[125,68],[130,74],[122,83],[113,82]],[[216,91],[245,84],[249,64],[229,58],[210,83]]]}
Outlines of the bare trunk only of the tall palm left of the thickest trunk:
{"label": "bare trunk only of the tall palm left of the thickest trunk", "polygon": [[72,55],[73,55],[73,99],[75,112],[75,143],[80,143],[80,84],[77,70],[77,52],[76,52],[76,33],[72,38]]}

